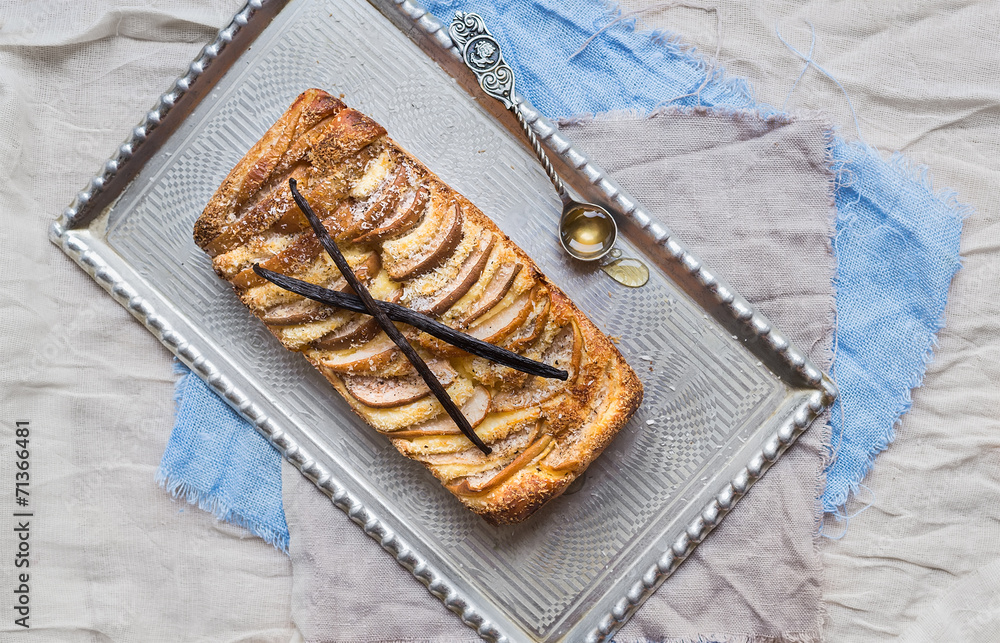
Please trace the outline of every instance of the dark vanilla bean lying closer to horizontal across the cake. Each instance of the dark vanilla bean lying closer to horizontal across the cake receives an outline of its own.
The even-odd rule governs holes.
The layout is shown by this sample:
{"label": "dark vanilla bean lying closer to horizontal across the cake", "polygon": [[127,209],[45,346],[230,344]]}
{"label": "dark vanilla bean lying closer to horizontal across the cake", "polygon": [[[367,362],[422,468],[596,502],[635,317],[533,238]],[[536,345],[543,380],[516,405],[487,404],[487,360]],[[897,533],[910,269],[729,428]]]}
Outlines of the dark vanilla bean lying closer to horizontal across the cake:
{"label": "dark vanilla bean lying closer to horizontal across the cake", "polygon": [[[273,270],[268,270],[258,264],[253,265],[253,271],[260,277],[267,279],[283,290],[293,292],[296,295],[301,295],[307,299],[312,299],[313,301],[318,301],[321,304],[334,306],[335,308],[343,308],[344,310],[350,310],[356,313],[368,312],[364,304],[361,303],[361,300],[354,295],[323,288],[322,286],[311,284],[308,281],[302,281],[301,279],[296,279],[294,277],[274,272]],[[418,313],[417,311],[407,308],[406,306],[400,306],[399,304],[394,304],[391,301],[382,301],[379,299],[376,299],[375,303],[379,308],[385,311],[385,314],[392,321],[409,324],[414,328],[424,331],[428,335],[437,337],[441,341],[451,344],[456,348],[460,348],[467,353],[471,353],[472,355],[485,357],[491,362],[496,362],[502,366],[509,366],[510,368],[521,371],[522,373],[527,373],[528,375],[537,375],[538,377],[557,379],[564,382],[569,379],[569,373],[561,368],[556,368],[543,362],[536,362],[533,359],[527,358],[523,355],[518,355],[517,353],[509,351],[501,346],[497,346],[496,344],[484,342],[477,337],[466,335],[463,332],[455,330],[451,326],[442,324],[436,319],[428,317],[422,313]]]}

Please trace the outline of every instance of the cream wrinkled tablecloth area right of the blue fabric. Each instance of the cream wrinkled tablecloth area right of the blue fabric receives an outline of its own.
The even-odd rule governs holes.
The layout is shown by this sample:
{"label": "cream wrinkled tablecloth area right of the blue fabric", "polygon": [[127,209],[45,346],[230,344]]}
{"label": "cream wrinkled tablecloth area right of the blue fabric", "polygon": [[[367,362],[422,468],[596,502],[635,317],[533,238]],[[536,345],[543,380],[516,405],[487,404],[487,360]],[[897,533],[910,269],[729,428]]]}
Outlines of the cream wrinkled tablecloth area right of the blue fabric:
{"label": "cream wrinkled tablecloth area right of the blue fabric", "polygon": [[[685,8],[682,4],[711,11]],[[623,0],[642,27],[669,29],[758,100],[782,105],[803,63],[846,89],[868,143],[931,168],[936,188],[976,208],[962,231],[934,361],[896,440],[824,526],[830,643],[1000,641],[1000,3]],[[721,29],[716,17],[721,18]],[[789,108],[823,109],[847,135],[841,90],[810,69]],[[850,412],[850,409],[845,409]],[[863,513],[859,513],[862,512]]]}

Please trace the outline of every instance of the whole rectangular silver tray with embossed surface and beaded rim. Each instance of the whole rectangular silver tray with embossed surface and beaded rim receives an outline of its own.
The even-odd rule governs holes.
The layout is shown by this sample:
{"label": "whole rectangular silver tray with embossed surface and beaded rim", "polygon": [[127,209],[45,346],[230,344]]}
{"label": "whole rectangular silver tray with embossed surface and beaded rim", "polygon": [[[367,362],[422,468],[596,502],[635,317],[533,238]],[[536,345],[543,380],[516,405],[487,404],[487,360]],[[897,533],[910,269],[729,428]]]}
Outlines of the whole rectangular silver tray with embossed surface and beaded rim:
{"label": "whole rectangular silver tray with embossed surface and beaded rim", "polygon": [[[517,125],[410,0],[253,0],[52,226],[52,240],[488,640],[602,640],[833,400],[832,383],[530,105],[563,176],[608,207],[638,289],[572,263]],[[376,6],[377,5],[377,6]],[[250,46],[252,44],[252,47]],[[583,482],[495,528],[359,420],[191,239],[215,188],[309,87],[468,196],[609,335],[645,400]],[[610,294],[609,294],[610,292]]]}

